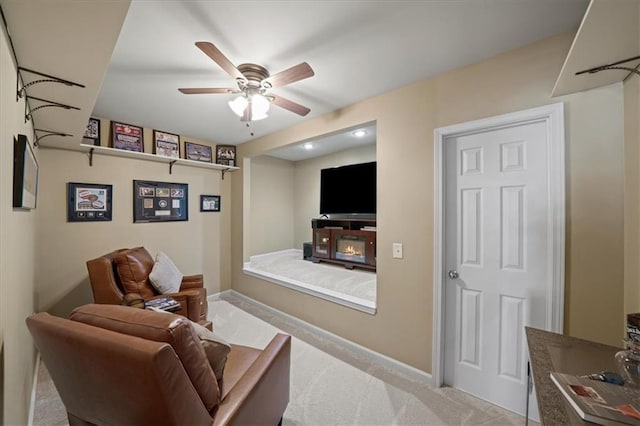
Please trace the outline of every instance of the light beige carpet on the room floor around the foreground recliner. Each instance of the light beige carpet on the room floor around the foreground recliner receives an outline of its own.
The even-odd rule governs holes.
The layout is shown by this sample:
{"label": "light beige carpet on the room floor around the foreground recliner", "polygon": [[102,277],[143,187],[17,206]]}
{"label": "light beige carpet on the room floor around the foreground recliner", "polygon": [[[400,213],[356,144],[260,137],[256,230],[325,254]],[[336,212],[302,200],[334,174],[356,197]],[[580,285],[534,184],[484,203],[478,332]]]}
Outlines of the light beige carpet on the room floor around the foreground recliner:
{"label": "light beige carpet on the room floor around the foreground recliner", "polygon": [[[218,333],[264,347],[277,332],[293,336],[291,397],[284,425],[522,425],[524,418],[457,389],[432,388],[230,295],[209,302]],[[46,368],[39,368],[34,425],[67,425]]]}

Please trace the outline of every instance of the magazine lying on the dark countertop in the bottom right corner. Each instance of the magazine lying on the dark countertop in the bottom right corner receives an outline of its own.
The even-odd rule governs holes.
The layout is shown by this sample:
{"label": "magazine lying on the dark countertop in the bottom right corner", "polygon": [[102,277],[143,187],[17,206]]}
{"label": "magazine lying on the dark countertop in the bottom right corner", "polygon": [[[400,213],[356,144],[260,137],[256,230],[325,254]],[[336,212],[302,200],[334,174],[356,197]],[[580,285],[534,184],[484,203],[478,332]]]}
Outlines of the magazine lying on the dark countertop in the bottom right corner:
{"label": "magazine lying on the dark countertop in the bottom right corner", "polygon": [[551,380],[583,420],[640,426],[640,390],[557,372]]}

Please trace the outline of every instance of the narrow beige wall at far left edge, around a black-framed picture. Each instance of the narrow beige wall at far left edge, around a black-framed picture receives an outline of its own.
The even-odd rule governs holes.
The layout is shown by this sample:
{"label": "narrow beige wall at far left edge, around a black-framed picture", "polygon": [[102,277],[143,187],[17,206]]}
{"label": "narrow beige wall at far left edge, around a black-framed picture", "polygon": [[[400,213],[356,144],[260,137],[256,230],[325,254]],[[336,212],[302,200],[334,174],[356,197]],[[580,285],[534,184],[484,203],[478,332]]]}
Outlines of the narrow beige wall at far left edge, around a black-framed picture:
{"label": "narrow beige wall at far left edge, around a black-framed picture", "polygon": [[[33,313],[35,290],[37,210],[13,209],[13,138],[27,135],[33,143],[31,122],[24,122],[24,101],[16,102],[16,68],[6,34],[0,29],[0,422],[27,424],[35,352],[25,318]],[[35,150],[36,157],[41,152]]]}

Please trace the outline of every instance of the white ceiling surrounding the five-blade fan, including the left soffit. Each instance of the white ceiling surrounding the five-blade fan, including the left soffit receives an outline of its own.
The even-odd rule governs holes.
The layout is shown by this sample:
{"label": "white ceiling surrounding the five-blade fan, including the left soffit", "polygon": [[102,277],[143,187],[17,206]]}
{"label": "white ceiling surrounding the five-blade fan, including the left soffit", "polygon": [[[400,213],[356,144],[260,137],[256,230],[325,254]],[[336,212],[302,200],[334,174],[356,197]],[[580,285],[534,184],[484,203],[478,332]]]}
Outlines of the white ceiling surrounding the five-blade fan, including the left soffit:
{"label": "white ceiling surrounding the five-blade fan, including the left soffit", "polygon": [[[90,115],[212,143],[243,143],[575,30],[588,0],[0,0],[0,5],[20,66],[86,86],[38,84],[28,92],[80,107],[43,108],[33,118],[36,127],[73,135],[47,137],[41,145],[77,149]],[[253,62],[272,74],[308,62],[314,77],[271,92],[311,112],[300,117],[272,106],[267,119],[247,128],[227,106],[231,95],[178,92],[179,87],[234,87],[196,41],[214,43],[235,65]]]}

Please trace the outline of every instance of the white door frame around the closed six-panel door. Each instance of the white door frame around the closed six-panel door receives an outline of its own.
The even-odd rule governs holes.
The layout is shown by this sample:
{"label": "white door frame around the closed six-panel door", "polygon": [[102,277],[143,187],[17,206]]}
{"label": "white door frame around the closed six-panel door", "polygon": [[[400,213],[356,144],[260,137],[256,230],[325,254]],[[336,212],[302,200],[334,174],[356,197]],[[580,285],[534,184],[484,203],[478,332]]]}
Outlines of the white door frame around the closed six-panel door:
{"label": "white door frame around the closed six-panel door", "polygon": [[565,270],[565,135],[564,103],[512,112],[434,130],[434,255],[433,255],[433,350],[432,383],[444,382],[445,284],[445,164],[444,144],[448,138],[503,127],[544,122],[547,131],[547,261],[552,265],[547,274],[547,316],[545,329],[562,333],[564,322]]}

